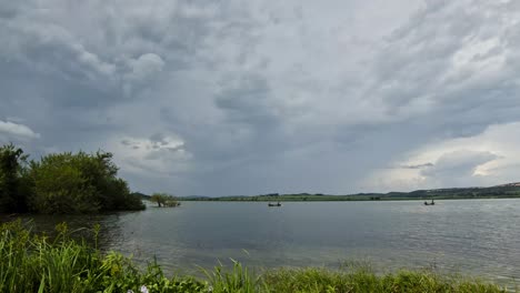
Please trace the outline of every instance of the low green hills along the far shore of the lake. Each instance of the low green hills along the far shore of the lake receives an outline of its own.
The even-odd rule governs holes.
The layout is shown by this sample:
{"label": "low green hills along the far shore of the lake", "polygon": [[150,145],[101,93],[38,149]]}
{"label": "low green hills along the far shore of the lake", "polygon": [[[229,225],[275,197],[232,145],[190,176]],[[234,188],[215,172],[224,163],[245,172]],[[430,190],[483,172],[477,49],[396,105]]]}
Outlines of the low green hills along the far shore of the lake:
{"label": "low green hills along the far shore of the lake", "polygon": [[383,201],[383,200],[457,200],[457,199],[511,199],[520,198],[520,182],[508,183],[489,188],[451,188],[416,190],[411,192],[388,193],[356,193],[346,195],[331,195],[323,193],[298,194],[260,194],[252,196],[193,196],[183,198],[188,201]]}

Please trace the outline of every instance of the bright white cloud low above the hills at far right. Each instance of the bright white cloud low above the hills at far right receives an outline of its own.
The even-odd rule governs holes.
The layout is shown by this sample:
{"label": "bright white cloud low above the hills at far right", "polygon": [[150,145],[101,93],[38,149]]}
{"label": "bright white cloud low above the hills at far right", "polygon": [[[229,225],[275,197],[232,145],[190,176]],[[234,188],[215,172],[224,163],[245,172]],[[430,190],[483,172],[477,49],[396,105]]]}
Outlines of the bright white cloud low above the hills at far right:
{"label": "bright white cloud low above the hills at far right", "polygon": [[[487,186],[519,180],[520,122],[422,146],[364,180],[376,190]],[[407,168],[419,166],[419,168]]]}

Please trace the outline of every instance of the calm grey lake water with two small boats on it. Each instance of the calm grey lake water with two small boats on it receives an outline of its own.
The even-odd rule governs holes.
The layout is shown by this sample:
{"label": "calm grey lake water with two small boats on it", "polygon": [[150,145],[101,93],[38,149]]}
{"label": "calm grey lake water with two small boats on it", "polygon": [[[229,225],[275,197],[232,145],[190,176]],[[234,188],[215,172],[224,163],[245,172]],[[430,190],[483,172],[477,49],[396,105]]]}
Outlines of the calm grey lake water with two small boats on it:
{"label": "calm grey lake water with two small boats on it", "polygon": [[[24,216],[26,219],[29,216]],[[520,277],[520,200],[394,202],[182,202],[142,212],[36,215],[38,230],[60,221],[100,223],[101,246],[157,256],[168,271],[200,272],[236,259],[250,266],[432,267],[501,284]]]}

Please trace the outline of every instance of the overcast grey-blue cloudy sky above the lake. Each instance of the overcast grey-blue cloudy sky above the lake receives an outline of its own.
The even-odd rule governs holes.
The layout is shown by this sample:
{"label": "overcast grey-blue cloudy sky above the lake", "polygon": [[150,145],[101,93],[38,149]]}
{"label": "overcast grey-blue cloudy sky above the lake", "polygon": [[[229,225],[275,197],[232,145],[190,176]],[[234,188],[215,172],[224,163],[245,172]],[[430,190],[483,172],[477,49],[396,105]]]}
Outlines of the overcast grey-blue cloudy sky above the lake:
{"label": "overcast grey-blue cloudy sky above the lake", "polygon": [[520,181],[520,1],[0,0],[0,143],[134,191]]}

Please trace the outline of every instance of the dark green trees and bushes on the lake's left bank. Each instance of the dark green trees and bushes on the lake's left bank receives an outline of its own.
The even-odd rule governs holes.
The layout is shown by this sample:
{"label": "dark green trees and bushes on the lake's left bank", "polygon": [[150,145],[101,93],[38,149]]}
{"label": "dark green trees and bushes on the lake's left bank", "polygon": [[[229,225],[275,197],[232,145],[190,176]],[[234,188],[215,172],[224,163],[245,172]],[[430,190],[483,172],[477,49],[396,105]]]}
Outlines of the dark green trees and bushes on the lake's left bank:
{"label": "dark green trees and bushes on the lake's left bank", "polygon": [[51,153],[37,161],[7,144],[0,146],[0,213],[143,210],[141,198],[117,175],[109,152]]}

